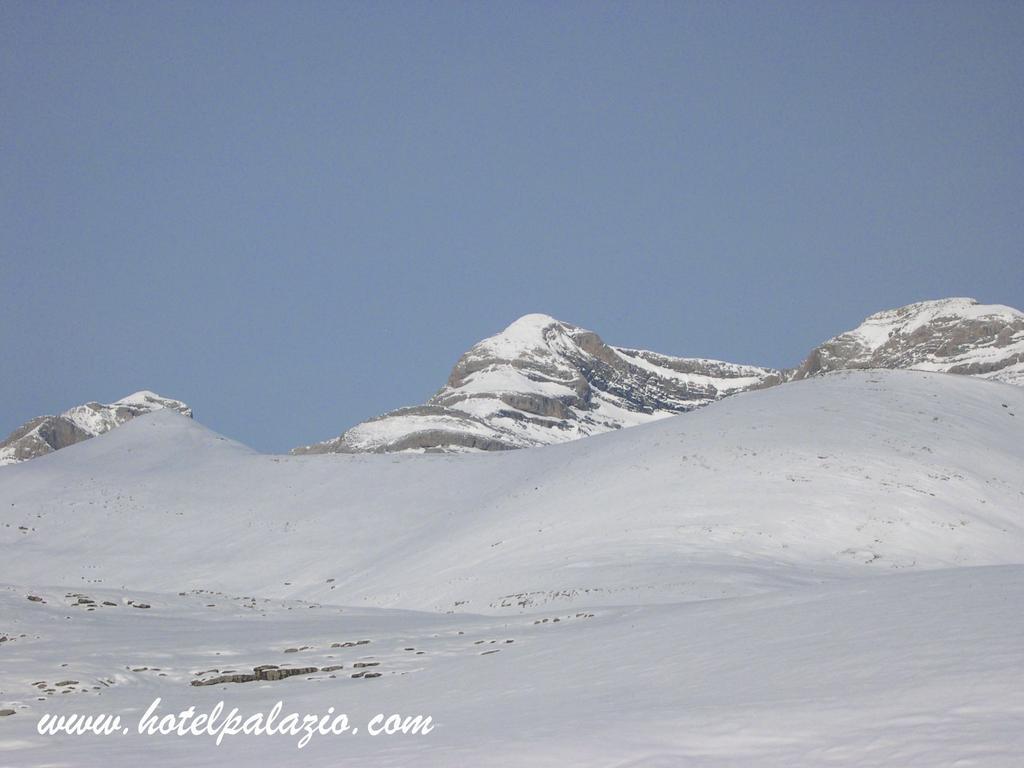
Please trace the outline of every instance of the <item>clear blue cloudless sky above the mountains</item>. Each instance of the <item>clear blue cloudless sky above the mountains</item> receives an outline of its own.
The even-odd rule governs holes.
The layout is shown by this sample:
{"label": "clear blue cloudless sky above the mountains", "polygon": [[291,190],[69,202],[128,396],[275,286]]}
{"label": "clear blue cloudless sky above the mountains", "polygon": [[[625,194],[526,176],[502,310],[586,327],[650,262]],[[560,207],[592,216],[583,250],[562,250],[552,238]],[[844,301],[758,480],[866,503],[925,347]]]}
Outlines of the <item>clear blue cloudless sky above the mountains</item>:
{"label": "clear blue cloudless sky above the mountains", "polygon": [[1024,308],[1024,3],[0,4],[0,432],[136,389],[255,447],[526,312],[794,366]]}

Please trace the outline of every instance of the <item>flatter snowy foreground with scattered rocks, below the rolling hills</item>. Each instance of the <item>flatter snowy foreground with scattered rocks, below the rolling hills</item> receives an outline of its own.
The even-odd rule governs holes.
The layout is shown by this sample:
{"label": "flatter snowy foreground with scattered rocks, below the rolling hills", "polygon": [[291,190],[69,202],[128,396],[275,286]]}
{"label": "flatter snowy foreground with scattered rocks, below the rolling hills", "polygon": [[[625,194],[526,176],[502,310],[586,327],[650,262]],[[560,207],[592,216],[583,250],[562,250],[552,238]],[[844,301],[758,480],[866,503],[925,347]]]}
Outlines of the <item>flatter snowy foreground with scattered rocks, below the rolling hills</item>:
{"label": "flatter snowy foreground with scattered rocks, below the rolling hills", "polygon": [[[1021,566],[579,616],[33,594],[45,602],[0,587],[0,633],[13,636],[0,710],[15,713],[0,719],[0,765],[12,768],[1019,768],[1024,754]],[[317,671],[189,685],[267,664]],[[353,677],[368,670],[380,677]],[[279,722],[345,713],[350,730],[301,751],[300,735],[140,735],[158,697],[160,717],[223,701],[219,726],[281,701]],[[128,732],[42,736],[42,713],[118,715]],[[429,715],[433,730],[371,736],[378,713]]]}

